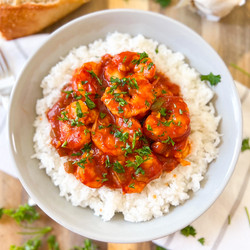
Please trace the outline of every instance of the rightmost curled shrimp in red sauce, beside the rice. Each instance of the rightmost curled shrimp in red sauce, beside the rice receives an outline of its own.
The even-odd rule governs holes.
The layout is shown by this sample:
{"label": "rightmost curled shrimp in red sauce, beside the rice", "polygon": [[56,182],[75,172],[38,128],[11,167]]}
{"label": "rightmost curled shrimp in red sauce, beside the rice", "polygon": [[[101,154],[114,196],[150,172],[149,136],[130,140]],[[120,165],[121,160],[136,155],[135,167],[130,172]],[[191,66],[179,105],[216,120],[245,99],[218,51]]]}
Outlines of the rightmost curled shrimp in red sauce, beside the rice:
{"label": "rightmost curled shrimp in red sauce, beside the rice", "polygon": [[187,137],[190,133],[190,118],[183,98],[166,96],[157,99],[156,104],[152,105],[153,111],[144,122],[144,134],[154,141],[172,145]]}

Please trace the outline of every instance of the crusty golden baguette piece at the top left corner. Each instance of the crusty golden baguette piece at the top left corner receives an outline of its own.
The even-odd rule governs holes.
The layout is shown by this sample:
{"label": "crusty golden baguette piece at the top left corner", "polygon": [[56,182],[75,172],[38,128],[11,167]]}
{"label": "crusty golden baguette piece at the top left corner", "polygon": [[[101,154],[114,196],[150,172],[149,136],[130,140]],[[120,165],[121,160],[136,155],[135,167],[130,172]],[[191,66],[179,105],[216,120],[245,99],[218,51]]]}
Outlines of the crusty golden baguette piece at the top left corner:
{"label": "crusty golden baguette piece at the top left corner", "polygon": [[0,33],[6,40],[36,33],[89,0],[0,0]]}

